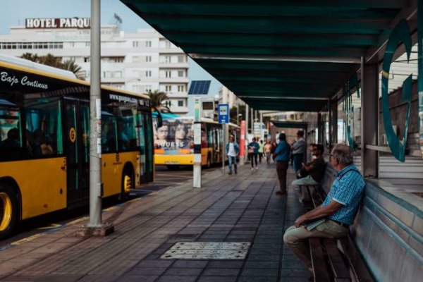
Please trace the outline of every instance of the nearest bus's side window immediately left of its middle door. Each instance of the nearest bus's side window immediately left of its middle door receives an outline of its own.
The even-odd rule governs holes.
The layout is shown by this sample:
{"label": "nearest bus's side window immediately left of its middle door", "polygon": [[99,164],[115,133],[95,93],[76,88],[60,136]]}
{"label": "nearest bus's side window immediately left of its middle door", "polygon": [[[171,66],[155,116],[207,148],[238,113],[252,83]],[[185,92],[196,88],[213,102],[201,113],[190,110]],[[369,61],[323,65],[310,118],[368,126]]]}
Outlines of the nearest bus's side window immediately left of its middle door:
{"label": "nearest bus's side window immediately left of its middle door", "polygon": [[63,154],[61,107],[57,98],[25,101],[26,134],[30,157]]}

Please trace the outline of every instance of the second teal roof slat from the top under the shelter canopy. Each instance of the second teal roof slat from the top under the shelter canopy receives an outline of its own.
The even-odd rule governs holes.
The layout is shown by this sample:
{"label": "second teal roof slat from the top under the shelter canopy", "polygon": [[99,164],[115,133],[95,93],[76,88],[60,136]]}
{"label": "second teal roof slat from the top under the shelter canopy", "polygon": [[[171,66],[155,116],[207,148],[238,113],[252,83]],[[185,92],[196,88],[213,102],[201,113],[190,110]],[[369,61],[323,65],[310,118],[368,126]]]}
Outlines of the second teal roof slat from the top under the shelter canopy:
{"label": "second teal roof slat from the top under the shelter canopy", "polygon": [[227,32],[227,33],[268,33],[268,34],[356,34],[380,35],[389,28],[388,20],[358,20],[343,18],[248,18],[239,19],[220,16],[169,17],[149,15],[147,22],[167,32]]}

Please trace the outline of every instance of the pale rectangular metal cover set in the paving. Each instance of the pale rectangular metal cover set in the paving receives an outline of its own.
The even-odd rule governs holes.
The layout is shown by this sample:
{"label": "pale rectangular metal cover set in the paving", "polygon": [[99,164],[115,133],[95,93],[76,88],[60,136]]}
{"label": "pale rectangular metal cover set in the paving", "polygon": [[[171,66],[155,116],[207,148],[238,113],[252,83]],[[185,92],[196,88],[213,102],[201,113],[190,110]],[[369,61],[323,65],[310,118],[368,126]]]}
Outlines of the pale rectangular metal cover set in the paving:
{"label": "pale rectangular metal cover set in the paving", "polygon": [[178,242],[161,259],[245,259],[251,243]]}

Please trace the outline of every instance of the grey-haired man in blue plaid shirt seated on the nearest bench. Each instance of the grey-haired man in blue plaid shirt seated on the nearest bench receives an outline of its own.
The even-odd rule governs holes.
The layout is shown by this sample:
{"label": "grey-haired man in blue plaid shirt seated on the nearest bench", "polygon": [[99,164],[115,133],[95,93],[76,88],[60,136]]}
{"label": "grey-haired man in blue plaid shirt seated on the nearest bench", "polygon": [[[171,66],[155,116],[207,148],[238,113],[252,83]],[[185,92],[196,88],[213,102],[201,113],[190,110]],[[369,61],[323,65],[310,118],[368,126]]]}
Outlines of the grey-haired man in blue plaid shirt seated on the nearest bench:
{"label": "grey-haired man in blue plaid shirt seated on the nearest bench", "polygon": [[[312,270],[308,238],[341,238],[348,235],[364,191],[364,179],[353,164],[353,155],[347,145],[332,149],[331,164],[337,171],[331,191],[323,204],[295,220],[283,235],[283,241]],[[305,221],[325,218],[314,228],[302,226]],[[311,229],[311,230],[309,230]]]}

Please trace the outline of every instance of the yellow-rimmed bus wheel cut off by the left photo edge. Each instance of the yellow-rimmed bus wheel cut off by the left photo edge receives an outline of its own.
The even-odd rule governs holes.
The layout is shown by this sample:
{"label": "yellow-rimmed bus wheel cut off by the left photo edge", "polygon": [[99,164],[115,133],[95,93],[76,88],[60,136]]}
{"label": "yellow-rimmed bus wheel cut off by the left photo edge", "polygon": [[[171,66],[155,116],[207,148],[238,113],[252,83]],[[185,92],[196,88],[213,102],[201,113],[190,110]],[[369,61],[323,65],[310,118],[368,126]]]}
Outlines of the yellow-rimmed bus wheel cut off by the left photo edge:
{"label": "yellow-rimmed bus wheel cut off by the left photo edge", "polygon": [[15,193],[8,185],[0,185],[0,239],[8,237],[16,224],[18,211]]}

